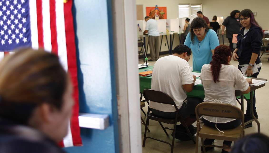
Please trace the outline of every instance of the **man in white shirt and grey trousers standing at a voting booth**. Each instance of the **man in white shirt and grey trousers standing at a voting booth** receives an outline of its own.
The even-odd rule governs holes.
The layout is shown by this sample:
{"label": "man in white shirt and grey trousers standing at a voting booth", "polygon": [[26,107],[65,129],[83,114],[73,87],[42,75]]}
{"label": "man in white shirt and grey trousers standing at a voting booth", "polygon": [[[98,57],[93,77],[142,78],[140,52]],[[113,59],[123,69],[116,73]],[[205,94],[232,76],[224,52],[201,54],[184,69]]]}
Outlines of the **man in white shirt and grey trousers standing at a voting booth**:
{"label": "man in white shirt and grey trousers standing at a voting booth", "polygon": [[160,52],[160,32],[158,29],[157,21],[151,19],[149,16],[145,17],[146,29],[144,34],[148,32],[148,43],[150,44],[150,56],[148,61],[157,61],[159,59]]}

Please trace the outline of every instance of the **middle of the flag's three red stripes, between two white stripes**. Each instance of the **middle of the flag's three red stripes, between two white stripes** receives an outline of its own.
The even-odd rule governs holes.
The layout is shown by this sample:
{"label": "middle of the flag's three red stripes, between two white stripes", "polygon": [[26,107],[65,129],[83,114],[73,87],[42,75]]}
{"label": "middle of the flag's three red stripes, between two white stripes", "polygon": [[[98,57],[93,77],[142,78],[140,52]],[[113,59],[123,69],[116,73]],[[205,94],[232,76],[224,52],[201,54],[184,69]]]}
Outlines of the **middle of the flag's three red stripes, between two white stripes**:
{"label": "middle of the flag's three red stripes, between two white stripes", "polygon": [[51,52],[58,54],[55,0],[49,1],[50,27],[51,27]]}

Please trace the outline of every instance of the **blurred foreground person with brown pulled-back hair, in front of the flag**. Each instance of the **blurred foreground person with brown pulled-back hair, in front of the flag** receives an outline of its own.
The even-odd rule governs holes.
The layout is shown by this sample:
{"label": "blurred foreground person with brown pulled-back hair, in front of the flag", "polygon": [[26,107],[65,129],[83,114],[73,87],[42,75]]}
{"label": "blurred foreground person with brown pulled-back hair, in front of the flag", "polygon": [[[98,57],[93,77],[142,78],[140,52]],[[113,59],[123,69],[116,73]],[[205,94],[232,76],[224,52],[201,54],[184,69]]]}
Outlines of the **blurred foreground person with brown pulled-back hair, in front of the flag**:
{"label": "blurred foreground person with brown pulled-back hair, in front of the flag", "polygon": [[72,84],[56,55],[23,49],[0,63],[0,153],[64,153]]}

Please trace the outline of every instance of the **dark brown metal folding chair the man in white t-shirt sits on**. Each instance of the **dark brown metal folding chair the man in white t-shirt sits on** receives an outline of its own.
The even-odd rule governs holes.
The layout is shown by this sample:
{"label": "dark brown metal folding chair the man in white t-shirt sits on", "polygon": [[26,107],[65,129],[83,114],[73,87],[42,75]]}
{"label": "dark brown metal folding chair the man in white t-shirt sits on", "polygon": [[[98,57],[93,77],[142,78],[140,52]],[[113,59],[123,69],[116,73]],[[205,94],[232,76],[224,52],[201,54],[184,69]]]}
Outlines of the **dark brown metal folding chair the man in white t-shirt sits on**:
{"label": "dark brown metal folding chair the man in white t-shirt sits on", "polygon": [[[175,104],[174,100],[172,99],[172,97],[170,97],[168,94],[166,94],[164,92],[157,91],[157,90],[152,90],[152,89],[143,90],[143,96],[146,99],[147,103],[150,100],[150,101],[154,101],[156,103],[174,105],[174,107],[176,109],[175,118],[168,119],[168,118],[160,118],[160,117],[154,115],[153,113],[150,113],[150,108],[148,107],[146,128],[145,128],[144,139],[143,139],[143,147],[145,147],[146,139],[150,138],[150,139],[153,139],[153,140],[157,140],[157,141],[169,144],[170,147],[171,147],[171,153],[172,153],[173,149],[174,149],[174,142],[175,142],[176,123],[179,122],[179,121],[186,127],[186,130],[188,131],[189,136],[192,137],[193,143],[195,144],[195,140],[194,140],[192,134],[190,133],[190,130],[187,128],[186,123],[184,122],[183,117],[181,116],[178,108],[176,107],[176,104]],[[167,142],[167,141],[156,139],[154,137],[149,137],[149,136],[146,137],[147,126],[148,126],[149,119],[158,121],[167,136],[169,136],[169,135],[168,135],[168,133],[166,132],[165,129],[173,130],[172,144]],[[164,127],[161,122],[162,123],[167,123],[167,124],[174,124],[174,128],[172,129],[172,128],[169,128],[169,127]]]}

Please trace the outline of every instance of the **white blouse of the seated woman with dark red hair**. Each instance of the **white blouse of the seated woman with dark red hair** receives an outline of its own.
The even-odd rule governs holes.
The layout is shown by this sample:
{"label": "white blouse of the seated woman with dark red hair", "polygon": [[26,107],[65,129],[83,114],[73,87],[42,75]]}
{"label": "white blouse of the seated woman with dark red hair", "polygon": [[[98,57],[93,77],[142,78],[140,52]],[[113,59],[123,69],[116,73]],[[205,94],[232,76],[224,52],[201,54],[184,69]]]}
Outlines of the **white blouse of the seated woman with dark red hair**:
{"label": "white blouse of the seated woman with dark red hair", "polygon": [[[243,78],[241,71],[233,65],[221,64],[219,81],[214,82],[211,72],[211,65],[205,64],[202,67],[200,79],[204,86],[204,102],[219,102],[237,106],[235,97],[235,86],[237,90],[246,91],[249,83]],[[235,119],[203,116],[204,119],[212,123],[227,123]]]}

